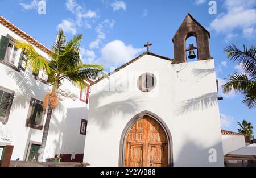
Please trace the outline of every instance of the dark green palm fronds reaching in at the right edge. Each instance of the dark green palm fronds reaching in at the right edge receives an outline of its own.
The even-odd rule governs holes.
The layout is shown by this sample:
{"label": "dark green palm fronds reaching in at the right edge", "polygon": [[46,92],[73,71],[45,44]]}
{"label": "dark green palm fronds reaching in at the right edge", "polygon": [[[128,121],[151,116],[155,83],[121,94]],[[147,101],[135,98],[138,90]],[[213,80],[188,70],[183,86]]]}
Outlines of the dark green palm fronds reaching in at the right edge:
{"label": "dark green palm fronds reaching in at the right edge", "polygon": [[229,45],[224,49],[228,58],[237,61],[243,73],[234,73],[229,76],[229,82],[222,86],[225,94],[241,93],[245,98],[242,102],[253,109],[256,106],[256,47],[249,49],[243,45],[243,51],[236,45]]}

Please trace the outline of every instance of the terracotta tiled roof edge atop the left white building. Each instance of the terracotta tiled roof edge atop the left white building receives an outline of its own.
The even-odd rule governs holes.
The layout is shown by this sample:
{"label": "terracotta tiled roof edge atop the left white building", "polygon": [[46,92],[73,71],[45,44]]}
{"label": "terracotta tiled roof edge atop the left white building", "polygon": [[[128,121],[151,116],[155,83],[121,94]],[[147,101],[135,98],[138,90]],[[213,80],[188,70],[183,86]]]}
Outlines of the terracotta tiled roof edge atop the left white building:
{"label": "terracotta tiled roof edge atop the left white building", "polygon": [[42,51],[44,51],[46,53],[50,52],[50,49],[48,49],[42,43],[40,43],[37,40],[35,40],[34,38],[32,38],[30,35],[26,34],[26,32],[20,30],[20,28],[16,27],[14,24],[12,24],[11,22],[9,22],[5,18],[3,18],[3,16],[0,16],[0,23],[3,24],[3,26],[9,28],[11,31],[15,32],[15,34],[19,35],[20,37],[22,37],[27,42],[29,42],[29,43],[35,45],[36,47],[38,47]]}

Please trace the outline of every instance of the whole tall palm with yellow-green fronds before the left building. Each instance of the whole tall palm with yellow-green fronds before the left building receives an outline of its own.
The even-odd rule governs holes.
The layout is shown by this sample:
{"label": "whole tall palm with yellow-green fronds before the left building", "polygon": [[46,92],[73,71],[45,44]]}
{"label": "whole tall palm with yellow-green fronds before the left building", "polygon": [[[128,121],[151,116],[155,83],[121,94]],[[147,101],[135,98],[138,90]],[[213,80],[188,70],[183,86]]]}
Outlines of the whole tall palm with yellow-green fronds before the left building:
{"label": "whole tall palm with yellow-green fronds before the left building", "polygon": [[22,49],[26,54],[27,66],[32,69],[33,73],[44,70],[48,74],[48,82],[52,86],[50,93],[44,96],[44,111],[47,107],[46,123],[44,125],[42,144],[40,146],[41,155],[39,161],[42,161],[44,148],[48,136],[49,123],[53,109],[57,106],[59,100],[57,98],[57,90],[62,81],[69,80],[77,86],[83,86],[85,79],[98,79],[105,76],[104,67],[97,64],[82,64],[80,59],[80,40],[82,35],[75,35],[67,42],[63,30],[59,30],[55,43],[49,52],[51,60],[47,61],[43,56],[39,55],[32,45],[24,42],[16,42],[16,47]]}

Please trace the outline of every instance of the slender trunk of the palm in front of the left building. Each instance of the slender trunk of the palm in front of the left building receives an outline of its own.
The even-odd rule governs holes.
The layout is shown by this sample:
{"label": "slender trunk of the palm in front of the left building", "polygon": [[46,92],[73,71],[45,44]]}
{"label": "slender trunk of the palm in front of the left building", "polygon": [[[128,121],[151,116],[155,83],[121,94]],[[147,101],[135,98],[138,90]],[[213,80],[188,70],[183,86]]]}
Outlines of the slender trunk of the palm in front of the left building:
{"label": "slender trunk of the palm in front of the left building", "polygon": [[[59,88],[59,82],[56,81],[53,85],[52,92],[51,92],[51,94],[53,96],[56,95],[58,88]],[[48,102],[49,102],[49,100],[48,100]],[[38,162],[43,162],[44,149],[46,148],[46,141],[47,141],[47,136],[48,136],[48,132],[49,132],[49,125],[50,125],[50,122],[51,122],[52,111],[53,111],[53,107],[49,106],[48,110],[47,110],[46,123],[44,124],[42,142],[41,142],[40,149],[38,151],[38,153],[39,153]]]}

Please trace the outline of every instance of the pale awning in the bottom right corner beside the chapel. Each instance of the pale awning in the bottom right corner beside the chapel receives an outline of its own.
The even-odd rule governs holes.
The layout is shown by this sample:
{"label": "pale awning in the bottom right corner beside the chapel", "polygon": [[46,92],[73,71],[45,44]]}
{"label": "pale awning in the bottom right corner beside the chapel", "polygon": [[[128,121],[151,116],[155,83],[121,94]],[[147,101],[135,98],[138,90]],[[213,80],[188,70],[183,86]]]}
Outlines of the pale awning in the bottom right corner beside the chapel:
{"label": "pale awning in the bottom right corner beside the chapel", "polygon": [[256,144],[250,144],[246,147],[229,152],[224,156],[225,160],[254,160],[256,161]]}

